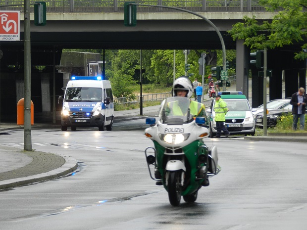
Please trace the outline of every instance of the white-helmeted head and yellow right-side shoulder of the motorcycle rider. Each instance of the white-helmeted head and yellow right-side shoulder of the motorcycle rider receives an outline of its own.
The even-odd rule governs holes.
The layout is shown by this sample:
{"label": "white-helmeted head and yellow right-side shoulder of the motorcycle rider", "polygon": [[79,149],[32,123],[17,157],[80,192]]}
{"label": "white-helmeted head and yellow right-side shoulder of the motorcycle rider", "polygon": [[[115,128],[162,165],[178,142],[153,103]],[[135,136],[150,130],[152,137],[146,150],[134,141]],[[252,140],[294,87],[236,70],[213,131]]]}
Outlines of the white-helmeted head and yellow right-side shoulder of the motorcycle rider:
{"label": "white-helmeted head and yellow right-side shoulder of the motorcycle rider", "polygon": [[[190,79],[179,77],[173,84],[174,96],[185,96],[191,98],[193,95],[193,85]],[[175,105],[174,105],[175,106]],[[205,105],[194,100],[190,100],[190,113],[193,117],[205,116]]]}

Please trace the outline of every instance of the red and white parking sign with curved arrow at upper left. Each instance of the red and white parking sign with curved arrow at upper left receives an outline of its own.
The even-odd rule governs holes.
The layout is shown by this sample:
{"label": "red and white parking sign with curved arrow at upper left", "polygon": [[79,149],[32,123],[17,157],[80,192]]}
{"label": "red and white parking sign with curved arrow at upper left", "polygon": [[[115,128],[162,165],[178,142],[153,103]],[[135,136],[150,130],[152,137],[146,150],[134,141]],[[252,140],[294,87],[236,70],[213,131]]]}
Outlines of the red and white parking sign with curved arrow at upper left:
{"label": "red and white parking sign with curved arrow at upper left", "polygon": [[0,41],[20,41],[19,16],[19,11],[0,11]]}

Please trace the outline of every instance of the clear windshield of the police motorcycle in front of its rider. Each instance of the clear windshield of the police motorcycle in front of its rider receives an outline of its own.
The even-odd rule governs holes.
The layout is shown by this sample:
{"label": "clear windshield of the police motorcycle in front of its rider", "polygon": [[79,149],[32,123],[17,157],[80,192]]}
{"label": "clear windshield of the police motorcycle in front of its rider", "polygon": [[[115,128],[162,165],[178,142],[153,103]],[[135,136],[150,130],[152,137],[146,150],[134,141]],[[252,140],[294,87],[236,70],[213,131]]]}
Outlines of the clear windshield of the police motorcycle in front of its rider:
{"label": "clear windshield of the police motorcycle in front of its rider", "polygon": [[190,100],[187,97],[174,96],[166,98],[159,112],[160,122],[169,125],[182,125],[192,122]]}

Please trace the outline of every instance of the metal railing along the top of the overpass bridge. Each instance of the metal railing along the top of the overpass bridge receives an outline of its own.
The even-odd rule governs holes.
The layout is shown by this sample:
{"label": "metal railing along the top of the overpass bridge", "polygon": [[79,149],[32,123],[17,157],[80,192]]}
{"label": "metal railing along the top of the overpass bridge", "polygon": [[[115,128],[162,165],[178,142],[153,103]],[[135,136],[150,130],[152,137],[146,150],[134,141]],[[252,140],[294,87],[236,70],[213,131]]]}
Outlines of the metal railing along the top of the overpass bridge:
{"label": "metal railing along the top of the overpass bridge", "polygon": [[[30,0],[30,4],[38,0]],[[44,0],[48,13],[64,12],[123,12],[125,0]],[[130,0],[129,0],[130,1]],[[139,4],[165,5],[194,12],[262,12],[259,0],[134,0]],[[24,4],[24,0],[0,0],[1,5]],[[33,6],[33,5],[31,5]],[[30,7],[34,11],[34,6]],[[23,6],[5,6],[0,10],[20,10]],[[138,12],[178,12],[174,9],[138,6]]]}

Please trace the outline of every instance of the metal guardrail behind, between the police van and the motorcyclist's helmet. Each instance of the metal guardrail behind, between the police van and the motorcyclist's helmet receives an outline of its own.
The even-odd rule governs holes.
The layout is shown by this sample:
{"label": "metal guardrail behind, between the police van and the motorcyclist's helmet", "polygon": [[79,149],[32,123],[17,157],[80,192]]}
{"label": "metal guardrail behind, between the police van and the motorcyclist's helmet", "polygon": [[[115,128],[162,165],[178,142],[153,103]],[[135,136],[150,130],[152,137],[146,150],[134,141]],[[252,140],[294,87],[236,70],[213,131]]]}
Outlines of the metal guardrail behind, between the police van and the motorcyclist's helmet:
{"label": "metal guardrail behind, between the police van and the motorcyclist's helmet", "polygon": [[[171,97],[171,92],[160,92],[160,93],[152,93],[152,94],[143,94],[143,102],[144,101],[162,101],[167,97]],[[140,95],[136,95],[135,99],[131,97],[118,97],[113,98],[114,103],[116,104],[129,104],[129,103],[139,103]]]}

